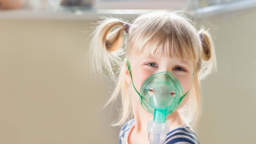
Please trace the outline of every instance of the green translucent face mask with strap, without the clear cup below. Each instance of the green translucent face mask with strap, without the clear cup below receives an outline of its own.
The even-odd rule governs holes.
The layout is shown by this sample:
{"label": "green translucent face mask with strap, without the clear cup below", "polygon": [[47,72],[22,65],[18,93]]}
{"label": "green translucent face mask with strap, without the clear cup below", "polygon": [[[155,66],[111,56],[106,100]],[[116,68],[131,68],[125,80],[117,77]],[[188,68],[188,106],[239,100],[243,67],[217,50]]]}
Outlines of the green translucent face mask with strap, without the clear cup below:
{"label": "green translucent face mask with strap, without the clear cup below", "polygon": [[[131,68],[128,60],[127,68],[131,79]],[[194,73],[193,73],[194,75]],[[166,116],[175,111],[187,95],[183,95],[183,89],[175,76],[168,71],[163,71],[148,77],[138,92],[133,84],[133,88],[140,97],[142,107],[154,115],[154,121],[165,123]]]}

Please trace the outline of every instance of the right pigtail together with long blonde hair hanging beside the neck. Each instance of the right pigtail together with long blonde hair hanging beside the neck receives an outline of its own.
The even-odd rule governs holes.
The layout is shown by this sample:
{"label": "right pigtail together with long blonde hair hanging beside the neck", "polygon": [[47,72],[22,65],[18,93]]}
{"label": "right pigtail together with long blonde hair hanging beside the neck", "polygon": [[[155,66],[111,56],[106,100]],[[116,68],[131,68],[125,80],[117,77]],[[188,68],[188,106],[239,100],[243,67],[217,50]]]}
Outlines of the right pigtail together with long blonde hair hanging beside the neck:
{"label": "right pigtail together with long blonde hair hanging beside the neck", "polygon": [[216,70],[215,47],[209,29],[205,30],[204,27],[201,27],[198,34],[201,53],[194,73],[191,96],[185,106],[179,110],[192,127],[198,124],[198,118],[201,115],[200,80],[209,75],[212,70]]}

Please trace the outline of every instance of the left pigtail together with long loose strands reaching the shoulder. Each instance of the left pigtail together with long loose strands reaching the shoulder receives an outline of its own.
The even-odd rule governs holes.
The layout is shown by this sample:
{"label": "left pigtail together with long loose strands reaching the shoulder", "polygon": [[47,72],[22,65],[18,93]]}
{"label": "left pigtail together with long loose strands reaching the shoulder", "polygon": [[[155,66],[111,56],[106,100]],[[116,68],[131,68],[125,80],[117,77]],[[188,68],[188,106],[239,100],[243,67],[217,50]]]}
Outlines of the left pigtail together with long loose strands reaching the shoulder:
{"label": "left pigtail together with long loose strands reaching the shoulder", "polygon": [[117,18],[102,18],[104,20],[97,23],[98,26],[90,35],[92,36],[89,49],[90,65],[100,76],[108,73],[116,84],[110,98],[100,110],[115,101],[120,93],[122,95],[122,115],[118,122],[111,124],[111,126],[120,126],[132,115],[131,100],[127,97],[128,86],[124,78],[126,64],[124,46],[127,43],[124,32],[128,33],[130,24]]}

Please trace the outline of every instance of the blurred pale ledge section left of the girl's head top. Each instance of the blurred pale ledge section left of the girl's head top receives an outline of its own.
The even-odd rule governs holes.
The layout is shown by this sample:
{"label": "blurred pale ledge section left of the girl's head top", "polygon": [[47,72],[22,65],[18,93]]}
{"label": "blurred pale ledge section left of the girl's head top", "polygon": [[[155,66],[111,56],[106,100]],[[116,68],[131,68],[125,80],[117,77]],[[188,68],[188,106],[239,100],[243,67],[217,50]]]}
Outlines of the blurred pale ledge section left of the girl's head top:
{"label": "blurred pale ledge section left of the girl's head top", "polygon": [[140,9],[98,9],[74,11],[33,11],[29,9],[0,11],[0,19],[70,19],[70,20],[100,20],[100,16],[113,16],[133,19],[135,15],[151,10]]}

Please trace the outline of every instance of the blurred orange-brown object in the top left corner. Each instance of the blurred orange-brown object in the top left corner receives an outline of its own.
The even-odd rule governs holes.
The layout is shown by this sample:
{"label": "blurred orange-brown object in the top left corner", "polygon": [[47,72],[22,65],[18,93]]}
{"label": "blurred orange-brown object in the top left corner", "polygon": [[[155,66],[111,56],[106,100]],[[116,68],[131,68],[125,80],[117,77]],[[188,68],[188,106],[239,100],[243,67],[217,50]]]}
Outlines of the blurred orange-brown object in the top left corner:
{"label": "blurred orange-brown object in the top left corner", "polygon": [[23,4],[23,0],[0,0],[0,9],[18,9]]}

